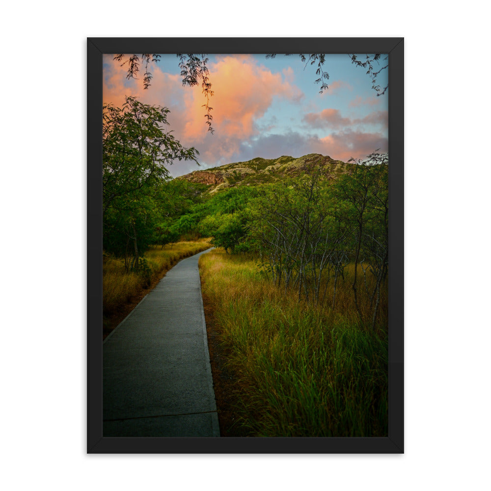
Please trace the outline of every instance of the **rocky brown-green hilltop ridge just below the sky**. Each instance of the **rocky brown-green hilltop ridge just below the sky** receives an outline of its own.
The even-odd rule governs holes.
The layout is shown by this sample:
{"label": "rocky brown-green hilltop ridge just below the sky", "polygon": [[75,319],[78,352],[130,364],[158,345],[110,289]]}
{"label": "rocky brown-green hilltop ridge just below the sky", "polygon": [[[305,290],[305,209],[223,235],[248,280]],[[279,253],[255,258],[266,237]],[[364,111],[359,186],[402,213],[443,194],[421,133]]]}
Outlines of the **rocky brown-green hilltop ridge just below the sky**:
{"label": "rocky brown-green hilltop ridge just below the sky", "polygon": [[206,184],[209,191],[214,193],[237,185],[248,186],[274,182],[285,176],[298,175],[302,171],[309,172],[312,169],[322,169],[328,177],[349,172],[354,164],[346,164],[340,160],[331,159],[320,154],[308,154],[295,159],[285,156],[278,159],[262,159],[257,157],[247,162],[236,162],[213,167],[206,170],[195,170],[190,174],[180,176],[177,179]]}

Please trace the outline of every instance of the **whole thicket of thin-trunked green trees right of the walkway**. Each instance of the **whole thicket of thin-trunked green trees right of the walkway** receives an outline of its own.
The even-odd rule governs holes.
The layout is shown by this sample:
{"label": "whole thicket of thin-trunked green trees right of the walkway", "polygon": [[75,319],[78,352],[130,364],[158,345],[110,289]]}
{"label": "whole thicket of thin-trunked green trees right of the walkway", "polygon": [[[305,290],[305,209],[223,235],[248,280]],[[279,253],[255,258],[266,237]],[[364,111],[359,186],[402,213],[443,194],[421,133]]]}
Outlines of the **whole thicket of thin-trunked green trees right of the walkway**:
{"label": "whole thicket of thin-trunked green trees right of the walkway", "polygon": [[[299,300],[334,306],[338,280],[354,264],[355,308],[360,322],[375,327],[388,269],[387,178],[387,156],[373,154],[335,180],[309,168],[263,187],[250,204],[248,234],[273,281],[295,288]],[[369,297],[365,311],[360,287]]]}

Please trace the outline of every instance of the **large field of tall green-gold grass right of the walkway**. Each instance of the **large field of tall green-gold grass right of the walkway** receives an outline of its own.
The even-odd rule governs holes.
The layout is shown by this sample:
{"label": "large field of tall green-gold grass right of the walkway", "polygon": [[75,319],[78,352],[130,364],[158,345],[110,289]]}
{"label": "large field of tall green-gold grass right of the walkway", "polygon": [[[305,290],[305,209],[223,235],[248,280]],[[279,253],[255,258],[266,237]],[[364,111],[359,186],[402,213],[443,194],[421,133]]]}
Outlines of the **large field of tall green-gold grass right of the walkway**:
{"label": "large field of tall green-gold grass right of the walkway", "polygon": [[353,272],[338,285],[332,309],[278,289],[244,254],[214,249],[199,266],[235,378],[241,434],[387,436],[386,292],[372,331],[357,321]]}

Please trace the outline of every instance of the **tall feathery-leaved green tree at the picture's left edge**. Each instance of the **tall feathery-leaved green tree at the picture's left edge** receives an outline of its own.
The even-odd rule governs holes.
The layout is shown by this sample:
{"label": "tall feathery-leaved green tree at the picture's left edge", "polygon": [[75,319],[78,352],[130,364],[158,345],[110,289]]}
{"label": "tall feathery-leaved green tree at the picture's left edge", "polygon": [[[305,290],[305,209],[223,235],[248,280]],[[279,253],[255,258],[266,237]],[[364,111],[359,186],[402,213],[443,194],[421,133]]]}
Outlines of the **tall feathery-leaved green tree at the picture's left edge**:
{"label": "tall feathery-leaved green tree at the picture's left edge", "polygon": [[168,112],[134,97],[122,108],[103,107],[104,248],[124,257],[127,269],[138,269],[138,257],[162,219],[155,200],[169,178],[167,166],[175,159],[197,163],[197,150],[166,131]]}

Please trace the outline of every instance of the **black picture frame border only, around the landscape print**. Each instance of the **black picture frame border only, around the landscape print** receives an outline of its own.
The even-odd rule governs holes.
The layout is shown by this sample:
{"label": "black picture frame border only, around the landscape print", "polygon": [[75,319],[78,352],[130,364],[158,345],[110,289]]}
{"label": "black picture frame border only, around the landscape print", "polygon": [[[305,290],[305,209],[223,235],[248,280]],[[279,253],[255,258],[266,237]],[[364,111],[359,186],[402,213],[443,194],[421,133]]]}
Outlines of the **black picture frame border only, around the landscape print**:
{"label": "black picture frame border only, around the landscape print", "polygon": [[[113,53],[388,54],[387,437],[102,436],[102,58]],[[87,38],[87,453],[404,453],[404,38]]]}

